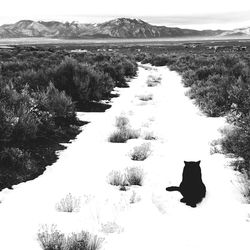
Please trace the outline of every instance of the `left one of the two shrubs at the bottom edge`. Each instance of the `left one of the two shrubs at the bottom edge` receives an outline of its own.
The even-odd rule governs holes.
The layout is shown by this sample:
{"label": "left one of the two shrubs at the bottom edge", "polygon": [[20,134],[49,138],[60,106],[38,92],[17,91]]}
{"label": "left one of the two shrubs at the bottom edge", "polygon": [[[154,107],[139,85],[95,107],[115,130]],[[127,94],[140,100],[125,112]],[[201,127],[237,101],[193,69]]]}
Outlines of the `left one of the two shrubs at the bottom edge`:
{"label": "left one of the two shrubs at the bottom edge", "polygon": [[55,225],[50,228],[43,225],[38,232],[38,240],[43,250],[62,250],[65,238]]}

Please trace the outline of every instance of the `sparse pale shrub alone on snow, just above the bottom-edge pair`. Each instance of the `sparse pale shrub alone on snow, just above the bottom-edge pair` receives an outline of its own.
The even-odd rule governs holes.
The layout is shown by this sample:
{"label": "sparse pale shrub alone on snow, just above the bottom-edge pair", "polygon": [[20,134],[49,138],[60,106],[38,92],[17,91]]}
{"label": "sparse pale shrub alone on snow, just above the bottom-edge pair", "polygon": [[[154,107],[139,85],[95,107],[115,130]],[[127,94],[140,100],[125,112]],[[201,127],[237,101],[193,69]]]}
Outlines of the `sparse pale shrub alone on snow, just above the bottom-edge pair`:
{"label": "sparse pale shrub alone on snow, just above the bottom-edge pair", "polygon": [[61,199],[56,204],[58,212],[78,212],[80,209],[80,198],[75,198],[71,193],[67,194],[65,198]]}

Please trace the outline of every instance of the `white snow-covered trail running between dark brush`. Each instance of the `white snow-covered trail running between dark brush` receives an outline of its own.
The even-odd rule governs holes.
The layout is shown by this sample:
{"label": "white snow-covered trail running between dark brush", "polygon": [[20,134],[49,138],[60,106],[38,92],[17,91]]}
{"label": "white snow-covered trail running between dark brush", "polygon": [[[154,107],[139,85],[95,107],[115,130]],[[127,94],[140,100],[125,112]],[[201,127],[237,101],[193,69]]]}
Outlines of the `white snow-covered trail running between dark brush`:
{"label": "white snow-covered trail running between dark brush", "polygon": [[[150,74],[161,75],[161,84],[147,87]],[[39,250],[39,226],[53,223],[65,233],[88,230],[104,237],[102,250],[249,249],[250,208],[239,180],[223,155],[210,154],[225,120],[203,116],[185,91],[181,77],[166,67],[140,67],[111,109],[79,114],[91,123],[59,160],[37,179],[0,193],[0,249]],[[145,93],[153,100],[140,101],[137,96]],[[158,137],[150,141],[152,154],[144,162],[128,156],[142,138],[125,144],[107,140],[121,113],[142,134],[153,131]],[[207,196],[195,209],[180,203],[179,193],[165,191],[180,183],[184,160],[201,160]],[[142,187],[122,192],[107,183],[112,170],[130,166],[143,168]],[[81,198],[80,211],[57,212],[55,204],[69,192]],[[131,204],[133,193],[138,202]]]}

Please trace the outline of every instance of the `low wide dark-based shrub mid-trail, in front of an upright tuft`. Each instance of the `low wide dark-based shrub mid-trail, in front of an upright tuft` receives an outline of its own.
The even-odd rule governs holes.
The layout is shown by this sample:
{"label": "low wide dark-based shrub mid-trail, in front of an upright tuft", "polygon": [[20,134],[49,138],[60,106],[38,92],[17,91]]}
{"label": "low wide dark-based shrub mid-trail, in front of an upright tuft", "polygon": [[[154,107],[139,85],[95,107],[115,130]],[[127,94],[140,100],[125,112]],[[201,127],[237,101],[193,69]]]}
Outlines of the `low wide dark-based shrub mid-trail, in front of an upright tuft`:
{"label": "low wide dark-based shrub mid-trail, in front of an upright tuft", "polygon": [[113,143],[124,143],[130,139],[136,139],[140,136],[137,130],[131,128],[122,128],[114,131],[108,138]]}

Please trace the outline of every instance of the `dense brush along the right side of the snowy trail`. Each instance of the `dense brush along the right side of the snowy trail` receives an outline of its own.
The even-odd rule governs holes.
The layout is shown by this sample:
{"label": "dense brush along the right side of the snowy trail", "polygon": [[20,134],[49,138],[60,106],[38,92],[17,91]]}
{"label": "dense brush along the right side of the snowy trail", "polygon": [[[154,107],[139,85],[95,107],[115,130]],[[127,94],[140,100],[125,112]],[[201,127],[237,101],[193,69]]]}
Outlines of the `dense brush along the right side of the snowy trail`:
{"label": "dense brush along the right side of the snowy trail", "polygon": [[250,177],[250,54],[220,45],[205,45],[172,53],[137,55],[143,63],[168,65],[181,73],[187,94],[208,116],[226,116],[231,129],[224,131],[222,151],[239,159],[236,168]]}

